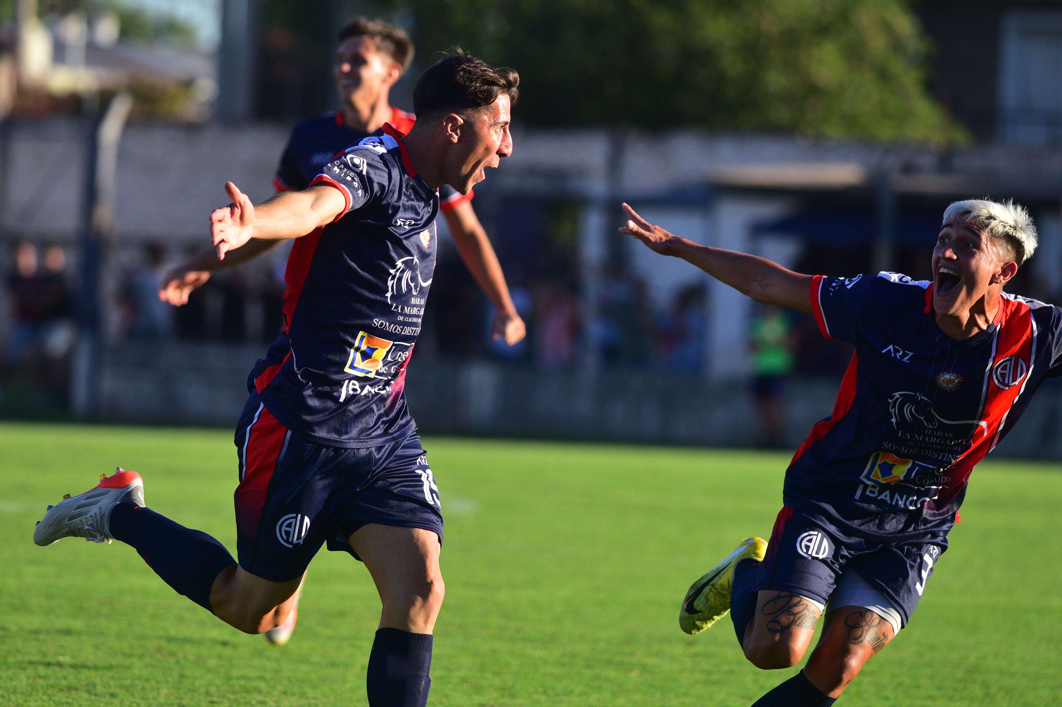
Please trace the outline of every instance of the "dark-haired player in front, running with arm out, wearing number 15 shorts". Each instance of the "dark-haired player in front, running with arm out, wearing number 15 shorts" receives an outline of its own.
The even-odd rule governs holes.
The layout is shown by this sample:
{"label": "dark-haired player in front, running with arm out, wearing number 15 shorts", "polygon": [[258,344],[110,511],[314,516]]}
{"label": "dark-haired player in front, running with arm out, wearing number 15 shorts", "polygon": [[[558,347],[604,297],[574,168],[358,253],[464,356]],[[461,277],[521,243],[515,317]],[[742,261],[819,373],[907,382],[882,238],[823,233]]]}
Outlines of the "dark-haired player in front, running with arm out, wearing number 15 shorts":
{"label": "dark-haired player in front, running with arm out, wearing number 15 shorts", "polygon": [[294,239],[284,330],[251,373],[236,431],[239,563],[206,533],[144,505],[119,469],[50,506],[34,532],[133,546],[182,593],[246,633],[281,624],[310,559],[327,544],[361,559],[382,602],[369,704],[421,706],[443,601],[443,519],[402,394],[438,243],[438,188],[467,194],[512,153],[519,77],[451,54],[417,81],[421,120],[384,126],[322,169],[308,189],[210,214],[219,259],[253,239]]}

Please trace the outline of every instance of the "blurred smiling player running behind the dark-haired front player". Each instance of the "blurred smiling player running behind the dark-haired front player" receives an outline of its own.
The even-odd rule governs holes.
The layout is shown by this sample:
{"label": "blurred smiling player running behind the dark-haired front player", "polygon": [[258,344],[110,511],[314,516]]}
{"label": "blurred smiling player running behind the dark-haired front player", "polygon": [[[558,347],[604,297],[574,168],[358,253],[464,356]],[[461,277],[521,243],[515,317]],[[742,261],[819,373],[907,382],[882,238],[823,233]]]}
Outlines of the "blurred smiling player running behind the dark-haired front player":
{"label": "blurred smiling player running behind the dark-haired front player", "polygon": [[[389,104],[391,87],[413,61],[413,44],[402,30],[381,20],[355,17],[339,32],[332,76],[342,105],[340,110],[308,118],[291,132],[280,157],[273,185],[278,192],[306,189],[325,165],[346,149],[373,134],[384,123],[401,135],[409,133],[416,118]],[[458,253],[497,314],[491,335],[512,346],[524,339],[525,325],[513,305],[494,247],[472,207],[474,192],[458,193],[443,185],[439,207],[449,226]],[[181,306],[210,275],[256,258],[280,243],[253,240],[230,253],[224,261],[213,251],[173,269],[159,287],[159,298]],[[301,593],[301,592],[299,592]],[[266,633],[266,638],[284,645],[291,638],[298,618],[296,609],[288,621]]]}

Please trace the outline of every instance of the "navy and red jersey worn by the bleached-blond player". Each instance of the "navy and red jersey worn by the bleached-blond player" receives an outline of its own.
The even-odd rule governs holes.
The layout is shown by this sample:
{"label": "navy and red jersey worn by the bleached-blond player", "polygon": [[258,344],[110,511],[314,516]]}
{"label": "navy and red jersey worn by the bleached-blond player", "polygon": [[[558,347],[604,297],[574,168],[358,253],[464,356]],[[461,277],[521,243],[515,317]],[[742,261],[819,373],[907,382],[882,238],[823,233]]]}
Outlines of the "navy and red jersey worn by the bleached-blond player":
{"label": "navy and red jersey worn by the bleached-blond player", "polygon": [[992,325],[959,341],[937,326],[932,288],[893,273],[811,281],[822,334],[856,350],[784,497],[841,541],[946,547],[974,466],[1062,374],[1062,309],[1004,294]]}

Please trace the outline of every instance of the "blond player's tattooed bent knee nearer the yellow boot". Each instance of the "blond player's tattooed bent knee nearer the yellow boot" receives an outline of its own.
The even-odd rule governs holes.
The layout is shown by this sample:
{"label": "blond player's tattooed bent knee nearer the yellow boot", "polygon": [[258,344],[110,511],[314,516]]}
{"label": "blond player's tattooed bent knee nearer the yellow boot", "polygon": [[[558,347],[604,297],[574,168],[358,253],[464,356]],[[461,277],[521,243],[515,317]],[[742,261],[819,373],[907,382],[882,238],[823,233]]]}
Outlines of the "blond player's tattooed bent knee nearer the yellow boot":
{"label": "blond player's tattooed bent knee nearer the yellow boot", "polygon": [[746,657],[757,668],[777,670],[800,662],[811,643],[822,609],[790,591],[763,589],[744,632]]}

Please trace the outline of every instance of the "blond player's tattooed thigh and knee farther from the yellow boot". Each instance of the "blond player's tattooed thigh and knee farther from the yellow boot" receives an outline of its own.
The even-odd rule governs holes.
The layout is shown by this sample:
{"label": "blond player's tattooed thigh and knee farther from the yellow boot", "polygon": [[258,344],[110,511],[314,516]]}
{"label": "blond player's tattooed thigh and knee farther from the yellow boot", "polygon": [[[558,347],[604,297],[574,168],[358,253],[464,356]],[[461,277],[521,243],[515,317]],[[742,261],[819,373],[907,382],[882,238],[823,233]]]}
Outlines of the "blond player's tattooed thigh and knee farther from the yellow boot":
{"label": "blond player's tattooed thigh and knee farther from the yellow boot", "polygon": [[804,667],[804,676],[819,690],[837,697],[862,667],[892,640],[892,624],[862,606],[830,608],[819,644]]}

